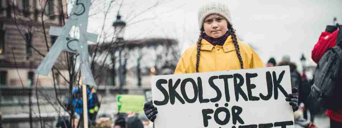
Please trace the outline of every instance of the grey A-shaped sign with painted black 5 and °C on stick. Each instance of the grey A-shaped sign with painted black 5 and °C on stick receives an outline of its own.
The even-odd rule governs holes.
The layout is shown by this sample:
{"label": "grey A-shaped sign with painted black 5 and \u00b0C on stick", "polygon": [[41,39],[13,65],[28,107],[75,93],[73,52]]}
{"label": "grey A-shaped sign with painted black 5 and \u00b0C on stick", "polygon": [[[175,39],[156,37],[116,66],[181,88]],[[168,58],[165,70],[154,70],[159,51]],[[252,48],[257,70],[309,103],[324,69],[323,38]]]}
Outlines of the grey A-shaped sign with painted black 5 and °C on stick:
{"label": "grey A-shaped sign with painted black 5 and \u00b0C on stick", "polygon": [[[66,24],[63,27],[50,27],[49,34],[58,37],[48,54],[39,64],[36,70],[37,74],[47,76],[62,51],[78,53],[81,58],[80,67],[83,83],[93,87],[97,86],[90,69],[87,43],[87,41],[97,41],[97,34],[87,32],[90,5],[90,0],[76,0]],[[73,26],[79,27],[79,39],[69,36]]]}

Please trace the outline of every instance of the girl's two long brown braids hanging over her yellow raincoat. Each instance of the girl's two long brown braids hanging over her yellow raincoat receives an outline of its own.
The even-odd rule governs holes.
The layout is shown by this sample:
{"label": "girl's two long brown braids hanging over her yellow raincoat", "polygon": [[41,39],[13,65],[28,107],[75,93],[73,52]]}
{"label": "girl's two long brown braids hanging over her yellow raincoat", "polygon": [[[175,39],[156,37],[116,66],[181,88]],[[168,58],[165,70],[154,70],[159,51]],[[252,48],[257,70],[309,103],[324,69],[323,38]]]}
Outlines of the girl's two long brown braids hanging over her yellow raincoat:
{"label": "girl's two long brown braids hanging over her yellow raincoat", "polygon": [[[232,35],[232,39],[233,39],[233,44],[235,47],[235,51],[237,54],[237,57],[240,61],[240,66],[241,69],[244,69],[244,62],[242,61],[242,56],[240,53],[240,47],[239,44],[237,43],[237,38],[236,38],[236,34],[235,34],[235,30],[233,29],[233,26],[231,24],[228,23],[228,29],[229,29],[229,34]],[[199,65],[199,53],[201,51],[201,41],[202,41],[202,35],[203,35],[203,29],[201,30],[201,33],[199,35],[198,41],[197,41],[197,54],[196,54],[196,73],[198,73],[198,65]]]}

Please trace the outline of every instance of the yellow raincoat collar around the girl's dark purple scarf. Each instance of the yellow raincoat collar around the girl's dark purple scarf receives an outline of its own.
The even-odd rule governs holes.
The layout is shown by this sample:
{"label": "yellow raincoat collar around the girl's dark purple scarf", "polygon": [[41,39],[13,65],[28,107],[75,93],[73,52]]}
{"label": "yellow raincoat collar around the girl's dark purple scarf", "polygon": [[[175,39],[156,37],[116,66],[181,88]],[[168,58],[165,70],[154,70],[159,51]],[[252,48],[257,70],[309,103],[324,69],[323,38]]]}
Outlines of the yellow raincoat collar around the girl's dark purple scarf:
{"label": "yellow raincoat collar around the girl's dark purple scarf", "polygon": [[229,52],[229,51],[235,50],[233,39],[232,39],[231,35],[228,36],[228,38],[224,42],[223,46],[218,46],[218,45],[214,46],[214,45],[210,44],[208,41],[206,41],[205,39],[202,39],[201,48],[200,48],[201,50],[211,51],[214,47],[223,48],[224,52]]}

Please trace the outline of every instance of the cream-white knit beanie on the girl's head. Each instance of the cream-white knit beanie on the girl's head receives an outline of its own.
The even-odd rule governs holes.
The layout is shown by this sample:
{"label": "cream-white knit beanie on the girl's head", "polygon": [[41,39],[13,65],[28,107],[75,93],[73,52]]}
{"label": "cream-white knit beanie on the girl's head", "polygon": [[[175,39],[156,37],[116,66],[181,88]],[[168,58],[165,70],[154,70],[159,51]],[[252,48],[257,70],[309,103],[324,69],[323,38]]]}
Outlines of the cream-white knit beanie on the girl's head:
{"label": "cream-white knit beanie on the girl's head", "polygon": [[231,21],[231,12],[228,7],[223,3],[212,2],[206,5],[203,5],[198,10],[198,28],[202,29],[204,19],[211,15],[218,14],[226,18],[227,22],[232,25]]}

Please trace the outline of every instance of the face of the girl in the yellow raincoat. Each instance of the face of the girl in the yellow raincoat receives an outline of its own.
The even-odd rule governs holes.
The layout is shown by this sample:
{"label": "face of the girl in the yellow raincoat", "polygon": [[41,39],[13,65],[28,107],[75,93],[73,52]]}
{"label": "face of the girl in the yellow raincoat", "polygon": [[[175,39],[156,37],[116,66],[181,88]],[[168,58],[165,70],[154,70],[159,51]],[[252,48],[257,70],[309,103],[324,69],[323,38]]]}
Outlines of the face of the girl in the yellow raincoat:
{"label": "face of the girl in the yellow raincoat", "polygon": [[207,16],[203,22],[203,28],[206,34],[213,38],[219,38],[227,32],[227,20],[217,14]]}

